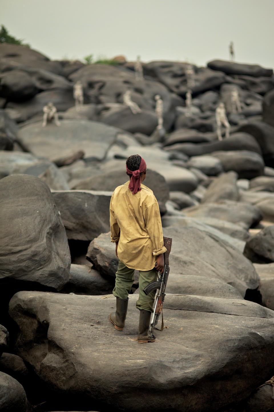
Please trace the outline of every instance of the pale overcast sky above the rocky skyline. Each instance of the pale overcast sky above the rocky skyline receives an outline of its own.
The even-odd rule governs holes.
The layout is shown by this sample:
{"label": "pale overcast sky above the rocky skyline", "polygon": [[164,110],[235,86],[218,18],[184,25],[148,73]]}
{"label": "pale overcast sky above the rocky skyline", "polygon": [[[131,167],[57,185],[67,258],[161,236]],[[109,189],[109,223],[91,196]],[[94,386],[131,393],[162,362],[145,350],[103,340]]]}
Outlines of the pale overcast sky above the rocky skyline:
{"label": "pale overcast sky above the rocky skyline", "polygon": [[228,59],[274,68],[274,0],[0,0],[0,24],[51,59]]}

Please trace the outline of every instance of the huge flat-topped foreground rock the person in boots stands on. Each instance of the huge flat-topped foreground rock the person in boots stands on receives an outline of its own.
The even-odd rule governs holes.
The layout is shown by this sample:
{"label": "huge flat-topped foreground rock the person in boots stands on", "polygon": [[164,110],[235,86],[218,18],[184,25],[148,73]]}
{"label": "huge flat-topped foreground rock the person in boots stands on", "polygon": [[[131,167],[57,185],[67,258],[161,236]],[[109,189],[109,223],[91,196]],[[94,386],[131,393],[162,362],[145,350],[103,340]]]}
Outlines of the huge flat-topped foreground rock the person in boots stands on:
{"label": "huge flat-topped foreground rock the person in boots stands on", "polygon": [[[274,361],[274,312],[253,302],[167,295],[165,325],[153,344],[134,339],[136,296],[124,330],[108,314],[114,296],[19,292],[10,315],[16,351],[60,395],[83,409],[104,402],[126,411],[206,412],[249,396]],[[39,333],[38,333],[39,331]],[[258,356],[260,362],[258,362]],[[225,385],[226,390],[220,390]]]}

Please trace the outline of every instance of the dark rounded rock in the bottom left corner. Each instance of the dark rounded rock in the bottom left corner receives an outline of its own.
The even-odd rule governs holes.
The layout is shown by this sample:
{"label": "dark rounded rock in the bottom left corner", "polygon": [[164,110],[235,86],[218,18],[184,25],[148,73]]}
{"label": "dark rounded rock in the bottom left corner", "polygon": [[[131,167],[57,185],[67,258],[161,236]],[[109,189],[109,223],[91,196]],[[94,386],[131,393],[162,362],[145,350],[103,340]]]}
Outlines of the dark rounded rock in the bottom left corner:
{"label": "dark rounded rock in the bottom left corner", "polygon": [[13,377],[0,372],[0,411],[25,412],[27,398],[24,388]]}

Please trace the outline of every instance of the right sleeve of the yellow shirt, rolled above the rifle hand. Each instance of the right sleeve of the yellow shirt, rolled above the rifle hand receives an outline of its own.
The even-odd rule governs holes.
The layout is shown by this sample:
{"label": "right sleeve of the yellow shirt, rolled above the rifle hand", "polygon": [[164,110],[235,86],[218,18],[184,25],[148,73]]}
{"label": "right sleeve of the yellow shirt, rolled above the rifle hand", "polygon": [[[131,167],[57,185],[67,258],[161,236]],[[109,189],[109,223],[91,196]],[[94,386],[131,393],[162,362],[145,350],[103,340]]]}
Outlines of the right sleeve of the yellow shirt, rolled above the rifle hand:
{"label": "right sleeve of the yellow shirt, rolled above the rifle hand", "polygon": [[147,233],[152,241],[152,254],[154,256],[161,255],[166,252],[166,247],[163,246],[163,229],[161,215],[157,199],[154,197],[154,203],[145,209],[143,213]]}

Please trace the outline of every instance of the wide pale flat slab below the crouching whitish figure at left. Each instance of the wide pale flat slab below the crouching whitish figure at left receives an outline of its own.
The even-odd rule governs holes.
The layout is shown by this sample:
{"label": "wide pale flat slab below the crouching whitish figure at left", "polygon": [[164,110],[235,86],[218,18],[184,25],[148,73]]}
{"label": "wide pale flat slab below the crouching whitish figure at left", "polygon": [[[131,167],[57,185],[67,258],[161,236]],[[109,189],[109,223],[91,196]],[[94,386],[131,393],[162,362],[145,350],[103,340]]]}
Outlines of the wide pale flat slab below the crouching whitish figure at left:
{"label": "wide pale flat slab below the crouching whitish figure at left", "polygon": [[41,127],[40,123],[23,126],[18,140],[33,155],[55,160],[70,156],[78,150],[85,157],[102,160],[108,148],[115,142],[120,129],[85,119],[64,119],[61,126],[54,122]]}

